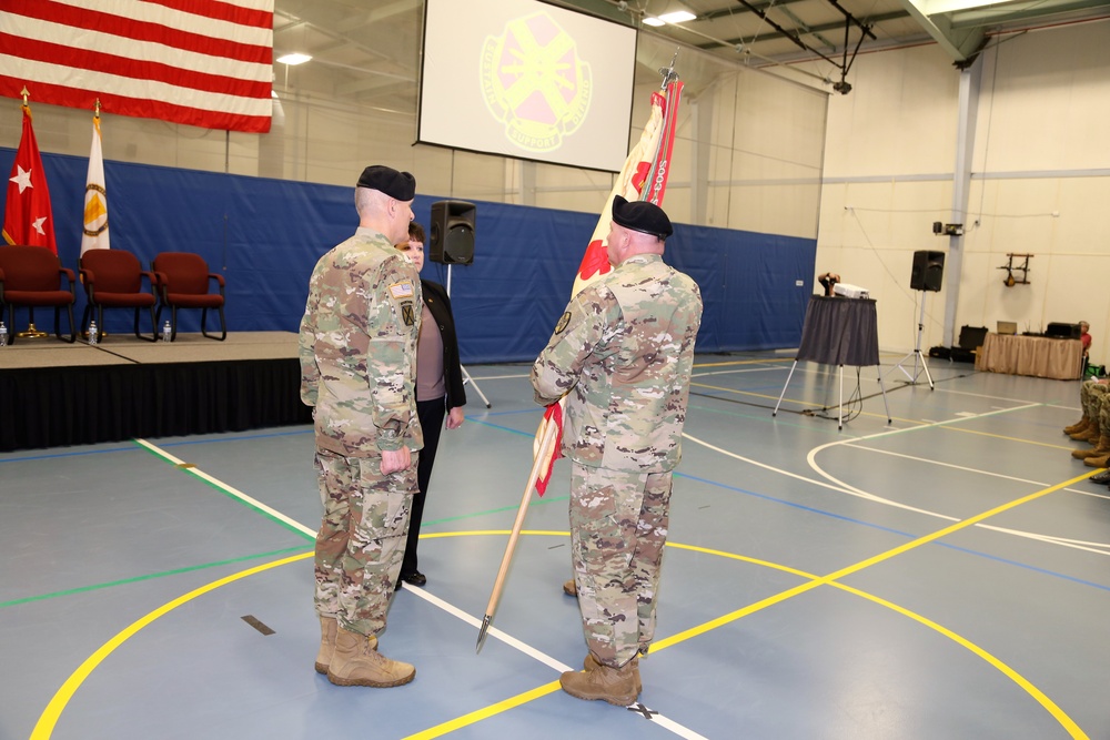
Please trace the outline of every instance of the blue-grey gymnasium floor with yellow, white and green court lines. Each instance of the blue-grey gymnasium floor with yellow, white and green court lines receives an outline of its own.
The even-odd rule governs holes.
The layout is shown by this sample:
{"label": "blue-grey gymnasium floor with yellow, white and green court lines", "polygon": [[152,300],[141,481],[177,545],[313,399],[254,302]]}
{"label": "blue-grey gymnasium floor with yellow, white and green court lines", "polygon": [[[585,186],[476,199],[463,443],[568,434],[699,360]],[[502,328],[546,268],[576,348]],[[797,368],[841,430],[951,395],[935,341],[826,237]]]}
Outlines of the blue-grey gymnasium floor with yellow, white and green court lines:
{"label": "blue-grey gymnasium floor with yellow, white and green court lines", "polygon": [[[533,500],[525,366],[468,367],[395,596],[395,689],[313,671],[312,435],[0,455],[0,738],[1110,738],[1110,491],[1069,452],[1078,382],[885,357],[838,430],[835,369],[699,356],[642,704],[583,702],[567,463]],[[920,379],[924,381],[924,377]],[[856,372],[845,371],[845,394]]]}

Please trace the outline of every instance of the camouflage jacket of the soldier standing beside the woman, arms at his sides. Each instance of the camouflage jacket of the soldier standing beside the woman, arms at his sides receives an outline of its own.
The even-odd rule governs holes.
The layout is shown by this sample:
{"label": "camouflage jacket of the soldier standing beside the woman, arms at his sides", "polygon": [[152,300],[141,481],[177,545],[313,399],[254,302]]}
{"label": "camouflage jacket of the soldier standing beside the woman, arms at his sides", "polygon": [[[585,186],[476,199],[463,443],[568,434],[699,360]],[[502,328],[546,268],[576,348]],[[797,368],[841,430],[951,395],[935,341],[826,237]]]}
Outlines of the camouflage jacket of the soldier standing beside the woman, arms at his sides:
{"label": "camouflage jacket of the soldier standing beside the woman, arms at his sides", "polygon": [[360,227],[316,263],[301,320],[301,401],[316,447],[344,457],[423,446],[416,418],[421,285],[390,240]]}

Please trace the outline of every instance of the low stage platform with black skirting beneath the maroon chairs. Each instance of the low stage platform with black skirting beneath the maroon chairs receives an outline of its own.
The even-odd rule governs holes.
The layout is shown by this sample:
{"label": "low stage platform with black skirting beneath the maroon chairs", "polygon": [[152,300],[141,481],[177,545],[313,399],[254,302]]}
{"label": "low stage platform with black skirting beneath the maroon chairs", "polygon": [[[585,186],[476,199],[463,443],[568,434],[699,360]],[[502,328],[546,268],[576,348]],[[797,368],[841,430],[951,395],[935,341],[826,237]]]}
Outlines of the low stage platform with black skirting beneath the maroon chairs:
{"label": "low stage platform with black skirting beneath the maroon chairs", "polygon": [[0,452],[309,424],[296,334],[113,334],[0,347]]}

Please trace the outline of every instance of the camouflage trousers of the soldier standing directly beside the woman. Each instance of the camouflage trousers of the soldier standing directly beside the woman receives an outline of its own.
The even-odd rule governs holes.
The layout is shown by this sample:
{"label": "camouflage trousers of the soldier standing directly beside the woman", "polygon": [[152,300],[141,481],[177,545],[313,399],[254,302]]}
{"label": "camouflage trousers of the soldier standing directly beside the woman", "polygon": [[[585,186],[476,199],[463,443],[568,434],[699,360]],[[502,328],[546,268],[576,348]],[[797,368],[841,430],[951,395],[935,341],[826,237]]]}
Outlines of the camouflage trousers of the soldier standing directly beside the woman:
{"label": "camouflage trousers of the soldier standing directly beside the woman", "polygon": [[393,596],[416,491],[416,455],[407,470],[382,475],[381,457],[316,450],[324,516],[316,533],[316,611],[343,629],[377,635]]}

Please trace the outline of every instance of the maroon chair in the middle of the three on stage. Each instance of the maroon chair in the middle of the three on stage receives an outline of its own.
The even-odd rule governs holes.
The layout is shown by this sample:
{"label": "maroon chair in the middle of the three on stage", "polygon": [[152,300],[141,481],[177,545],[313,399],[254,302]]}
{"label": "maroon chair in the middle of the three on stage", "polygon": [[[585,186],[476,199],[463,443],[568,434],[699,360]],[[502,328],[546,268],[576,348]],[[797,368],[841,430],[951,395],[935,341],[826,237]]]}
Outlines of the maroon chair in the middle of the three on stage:
{"label": "maroon chair in the middle of the three on stage", "polygon": [[[97,325],[104,331],[104,308],[134,308],[134,333],[140,339],[154,342],[158,324],[154,318],[154,274],[139,264],[139,257],[123,250],[89,250],[81,255],[81,282],[89,302],[81,316],[82,330],[97,312]],[[150,293],[143,293],[142,278],[147,278]],[[150,336],[139,331],[139,312],[150,314]]]}

